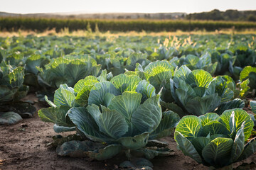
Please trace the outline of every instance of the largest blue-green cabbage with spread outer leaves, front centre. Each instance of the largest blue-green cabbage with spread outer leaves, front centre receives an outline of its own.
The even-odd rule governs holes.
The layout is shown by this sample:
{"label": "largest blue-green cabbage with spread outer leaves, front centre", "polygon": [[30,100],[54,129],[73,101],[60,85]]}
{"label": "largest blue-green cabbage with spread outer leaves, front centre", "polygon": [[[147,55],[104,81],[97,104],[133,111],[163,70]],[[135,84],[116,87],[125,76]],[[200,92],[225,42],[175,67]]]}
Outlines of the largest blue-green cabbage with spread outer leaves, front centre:
{"label": "largest blue-green cabbage with spread outer leaves, front centre", "polygon": [[74,107],[68,116],[90,140],[140,149],[148,140],[170,135],[179,117],[162,113],[154,86],[135,75],[119,74],[96,83],[88,106]]}

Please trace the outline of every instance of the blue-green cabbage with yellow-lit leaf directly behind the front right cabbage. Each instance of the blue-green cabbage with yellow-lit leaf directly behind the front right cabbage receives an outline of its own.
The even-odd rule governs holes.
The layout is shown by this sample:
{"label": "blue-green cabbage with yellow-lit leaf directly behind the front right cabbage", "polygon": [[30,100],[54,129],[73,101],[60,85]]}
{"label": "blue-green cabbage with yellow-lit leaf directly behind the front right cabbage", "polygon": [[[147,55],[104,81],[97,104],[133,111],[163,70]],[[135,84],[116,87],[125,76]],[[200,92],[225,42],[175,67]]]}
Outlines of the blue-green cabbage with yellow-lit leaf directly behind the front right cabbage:
{"label": "blue-green cabbage with yellow-lit leaf directly behind the front right cabbage", "polygon": [[183,111],[193,115],[203,115],[216,111],[221,114],[231,108],[243,108],[244,102],[240,99],[231,101],[234,96],[235,82],[228,76],[213,78],[210,73],[196,69],[191,71],[181,66],[170,79],[171,95]]}

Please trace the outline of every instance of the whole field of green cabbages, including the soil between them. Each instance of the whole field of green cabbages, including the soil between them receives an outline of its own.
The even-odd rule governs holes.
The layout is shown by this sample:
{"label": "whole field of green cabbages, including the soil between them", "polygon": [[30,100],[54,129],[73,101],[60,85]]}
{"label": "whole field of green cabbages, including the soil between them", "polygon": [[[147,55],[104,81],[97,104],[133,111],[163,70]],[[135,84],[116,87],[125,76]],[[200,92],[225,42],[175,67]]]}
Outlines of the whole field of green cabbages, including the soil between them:
{"label": "whole field of green cabbages, including the soil between them", "polygon": [[0,169],[256,169],[255,114],[256,35],[0,38]]}

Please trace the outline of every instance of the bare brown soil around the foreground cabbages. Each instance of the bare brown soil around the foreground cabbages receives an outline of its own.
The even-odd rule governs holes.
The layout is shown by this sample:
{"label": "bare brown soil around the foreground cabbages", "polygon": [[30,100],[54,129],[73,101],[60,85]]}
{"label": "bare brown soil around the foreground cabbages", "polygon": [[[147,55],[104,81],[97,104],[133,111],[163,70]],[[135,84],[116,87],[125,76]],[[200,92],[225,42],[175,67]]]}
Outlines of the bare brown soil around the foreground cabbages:
{"label": "bare brown soil around the foreground cabbages", "polygon": [[[37,101],[33,95],[28,96],[30,100]],[[35,104],[36,108],[42,106]],[[46,147],[52,142],[52,137],[56,135],[53,131],[52,123],[45,123],[35,114],[32,118],[26,118],[16,125],[0,126],[0,170],[1,169],[118,169],[125,157],[118,155],[104,162],[92,161],[88,158],[60,157],[55,153],[55,149]],[[67,136],[73,132],[63,132],[60,135]],[[151,159],[154,169],[208,169],[208,167],[198,164],[190,157],[176,148],[174,137],[165,137],[161,141],[168,142],[169,148],[175,154],[171,157],[159,157]],[[251,164],[249,169],[256,169],[256,153],[245,161],[234,164]]]}

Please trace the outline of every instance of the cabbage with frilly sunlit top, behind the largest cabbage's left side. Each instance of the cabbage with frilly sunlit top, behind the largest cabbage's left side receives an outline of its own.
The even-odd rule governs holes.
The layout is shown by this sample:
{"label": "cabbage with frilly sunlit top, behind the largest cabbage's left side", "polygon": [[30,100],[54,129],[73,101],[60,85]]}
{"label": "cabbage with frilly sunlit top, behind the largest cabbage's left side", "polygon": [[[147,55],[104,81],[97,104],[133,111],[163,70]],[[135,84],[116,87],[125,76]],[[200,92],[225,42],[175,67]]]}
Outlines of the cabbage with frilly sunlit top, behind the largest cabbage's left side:
{"label": "cabbage with frilly sunlit top, behind the largest cabbage's left side", "polygon": [[89,56],[69,56],[52,59],[45,69],[38,68],[38,83],[45,88],[58,89],[60,84],[74,86],[80,79],[100,72],[100,65]]}

